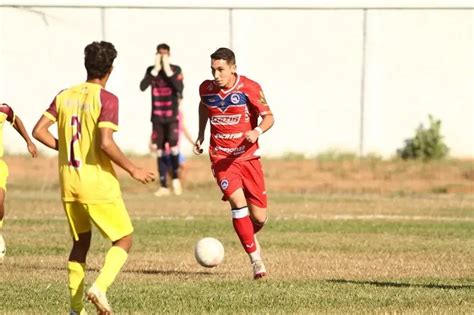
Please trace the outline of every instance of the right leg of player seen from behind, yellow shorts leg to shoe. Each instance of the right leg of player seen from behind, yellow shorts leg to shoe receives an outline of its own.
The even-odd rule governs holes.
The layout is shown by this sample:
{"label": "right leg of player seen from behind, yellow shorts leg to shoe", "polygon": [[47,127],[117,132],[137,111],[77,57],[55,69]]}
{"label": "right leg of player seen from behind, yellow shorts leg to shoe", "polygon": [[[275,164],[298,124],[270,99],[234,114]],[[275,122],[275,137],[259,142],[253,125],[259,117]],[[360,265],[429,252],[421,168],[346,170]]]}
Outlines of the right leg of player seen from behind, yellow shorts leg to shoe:
{"label": "right leg of player seen from behind, yellow shorts leg to shoe", "polygon": [[87,298],[100,314],[110,314],[106,293],[125,265],[132,246],[133,226],[123,200],[108,204],[88,205],[91,220],[112,241],[99,276],[87,291]]}

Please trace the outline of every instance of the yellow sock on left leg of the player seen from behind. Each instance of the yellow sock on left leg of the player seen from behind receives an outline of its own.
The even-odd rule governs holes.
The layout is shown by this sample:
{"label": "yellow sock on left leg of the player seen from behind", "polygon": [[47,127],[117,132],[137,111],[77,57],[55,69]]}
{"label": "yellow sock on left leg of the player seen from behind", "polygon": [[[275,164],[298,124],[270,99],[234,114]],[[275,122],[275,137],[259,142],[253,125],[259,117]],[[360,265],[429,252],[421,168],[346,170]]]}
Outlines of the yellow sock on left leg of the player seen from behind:
{"label": "yellow sock on left leg of the player seen from behind", "polygon": [[86,275],[86,264],[76,261],[68,261],[68,285],[71,299],[71,309],[77,314],[84,308],[84,278]]}

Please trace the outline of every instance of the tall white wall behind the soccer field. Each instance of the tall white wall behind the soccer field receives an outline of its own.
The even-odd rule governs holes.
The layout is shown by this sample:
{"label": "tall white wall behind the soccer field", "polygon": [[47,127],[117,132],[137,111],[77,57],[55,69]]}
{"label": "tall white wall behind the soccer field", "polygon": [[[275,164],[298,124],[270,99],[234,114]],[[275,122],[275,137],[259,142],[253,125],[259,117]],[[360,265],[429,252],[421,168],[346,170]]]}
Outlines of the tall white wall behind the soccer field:
{"label": "tall white wall behind the soccer field", "polygon": [[[442,120],[451,154],[474,157],[470,8],[4,6],[0,100],[31,129],[58,91],[85,79],[83,48],[101,39],[119,52],[107,88],[121,101],[116,139],[125,151],[147,151],[150,92],[138,85],[156,45],[166,42],[183,68],[183,109],[194,134],[197,89],[211,78],[209,55],[227,46],[275,113],[261,139],[265,154],[340,149],[388,157],[432,114]],[[8,126],[4,143],[8,152],[24,151]],[[190,153],[189,145],[183,149]]]}

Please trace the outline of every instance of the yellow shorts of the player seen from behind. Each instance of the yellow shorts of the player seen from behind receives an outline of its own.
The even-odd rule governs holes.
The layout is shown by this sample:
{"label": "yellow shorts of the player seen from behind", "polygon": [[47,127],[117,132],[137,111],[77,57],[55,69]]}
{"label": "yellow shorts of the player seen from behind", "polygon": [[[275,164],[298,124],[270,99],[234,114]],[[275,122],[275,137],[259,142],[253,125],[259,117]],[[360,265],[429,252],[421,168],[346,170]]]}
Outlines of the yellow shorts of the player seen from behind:
{"label": "yellow shorts of the player seen from behind", "polygon": [[71,235],[76,241],[79,239],[78,234],[91,231],[91,222],[112,242],[133,232],[132,222],[122,199],[101,204],[63,202],[63,206]]}

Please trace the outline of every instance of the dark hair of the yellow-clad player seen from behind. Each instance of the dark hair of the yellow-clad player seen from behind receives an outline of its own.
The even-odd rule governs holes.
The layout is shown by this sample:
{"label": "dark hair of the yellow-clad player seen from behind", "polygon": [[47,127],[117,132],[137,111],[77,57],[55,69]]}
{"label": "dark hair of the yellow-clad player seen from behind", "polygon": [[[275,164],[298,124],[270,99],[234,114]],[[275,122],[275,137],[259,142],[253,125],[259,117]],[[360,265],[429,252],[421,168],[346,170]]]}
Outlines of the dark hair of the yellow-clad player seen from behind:
{"label": "dark hair of the yellow-clad player seen from behind", "polygon": [[84,48],[84,65],[87,79],[102,79],[111,70],[117,57],[117,50],[109,42],[92,42]]}

